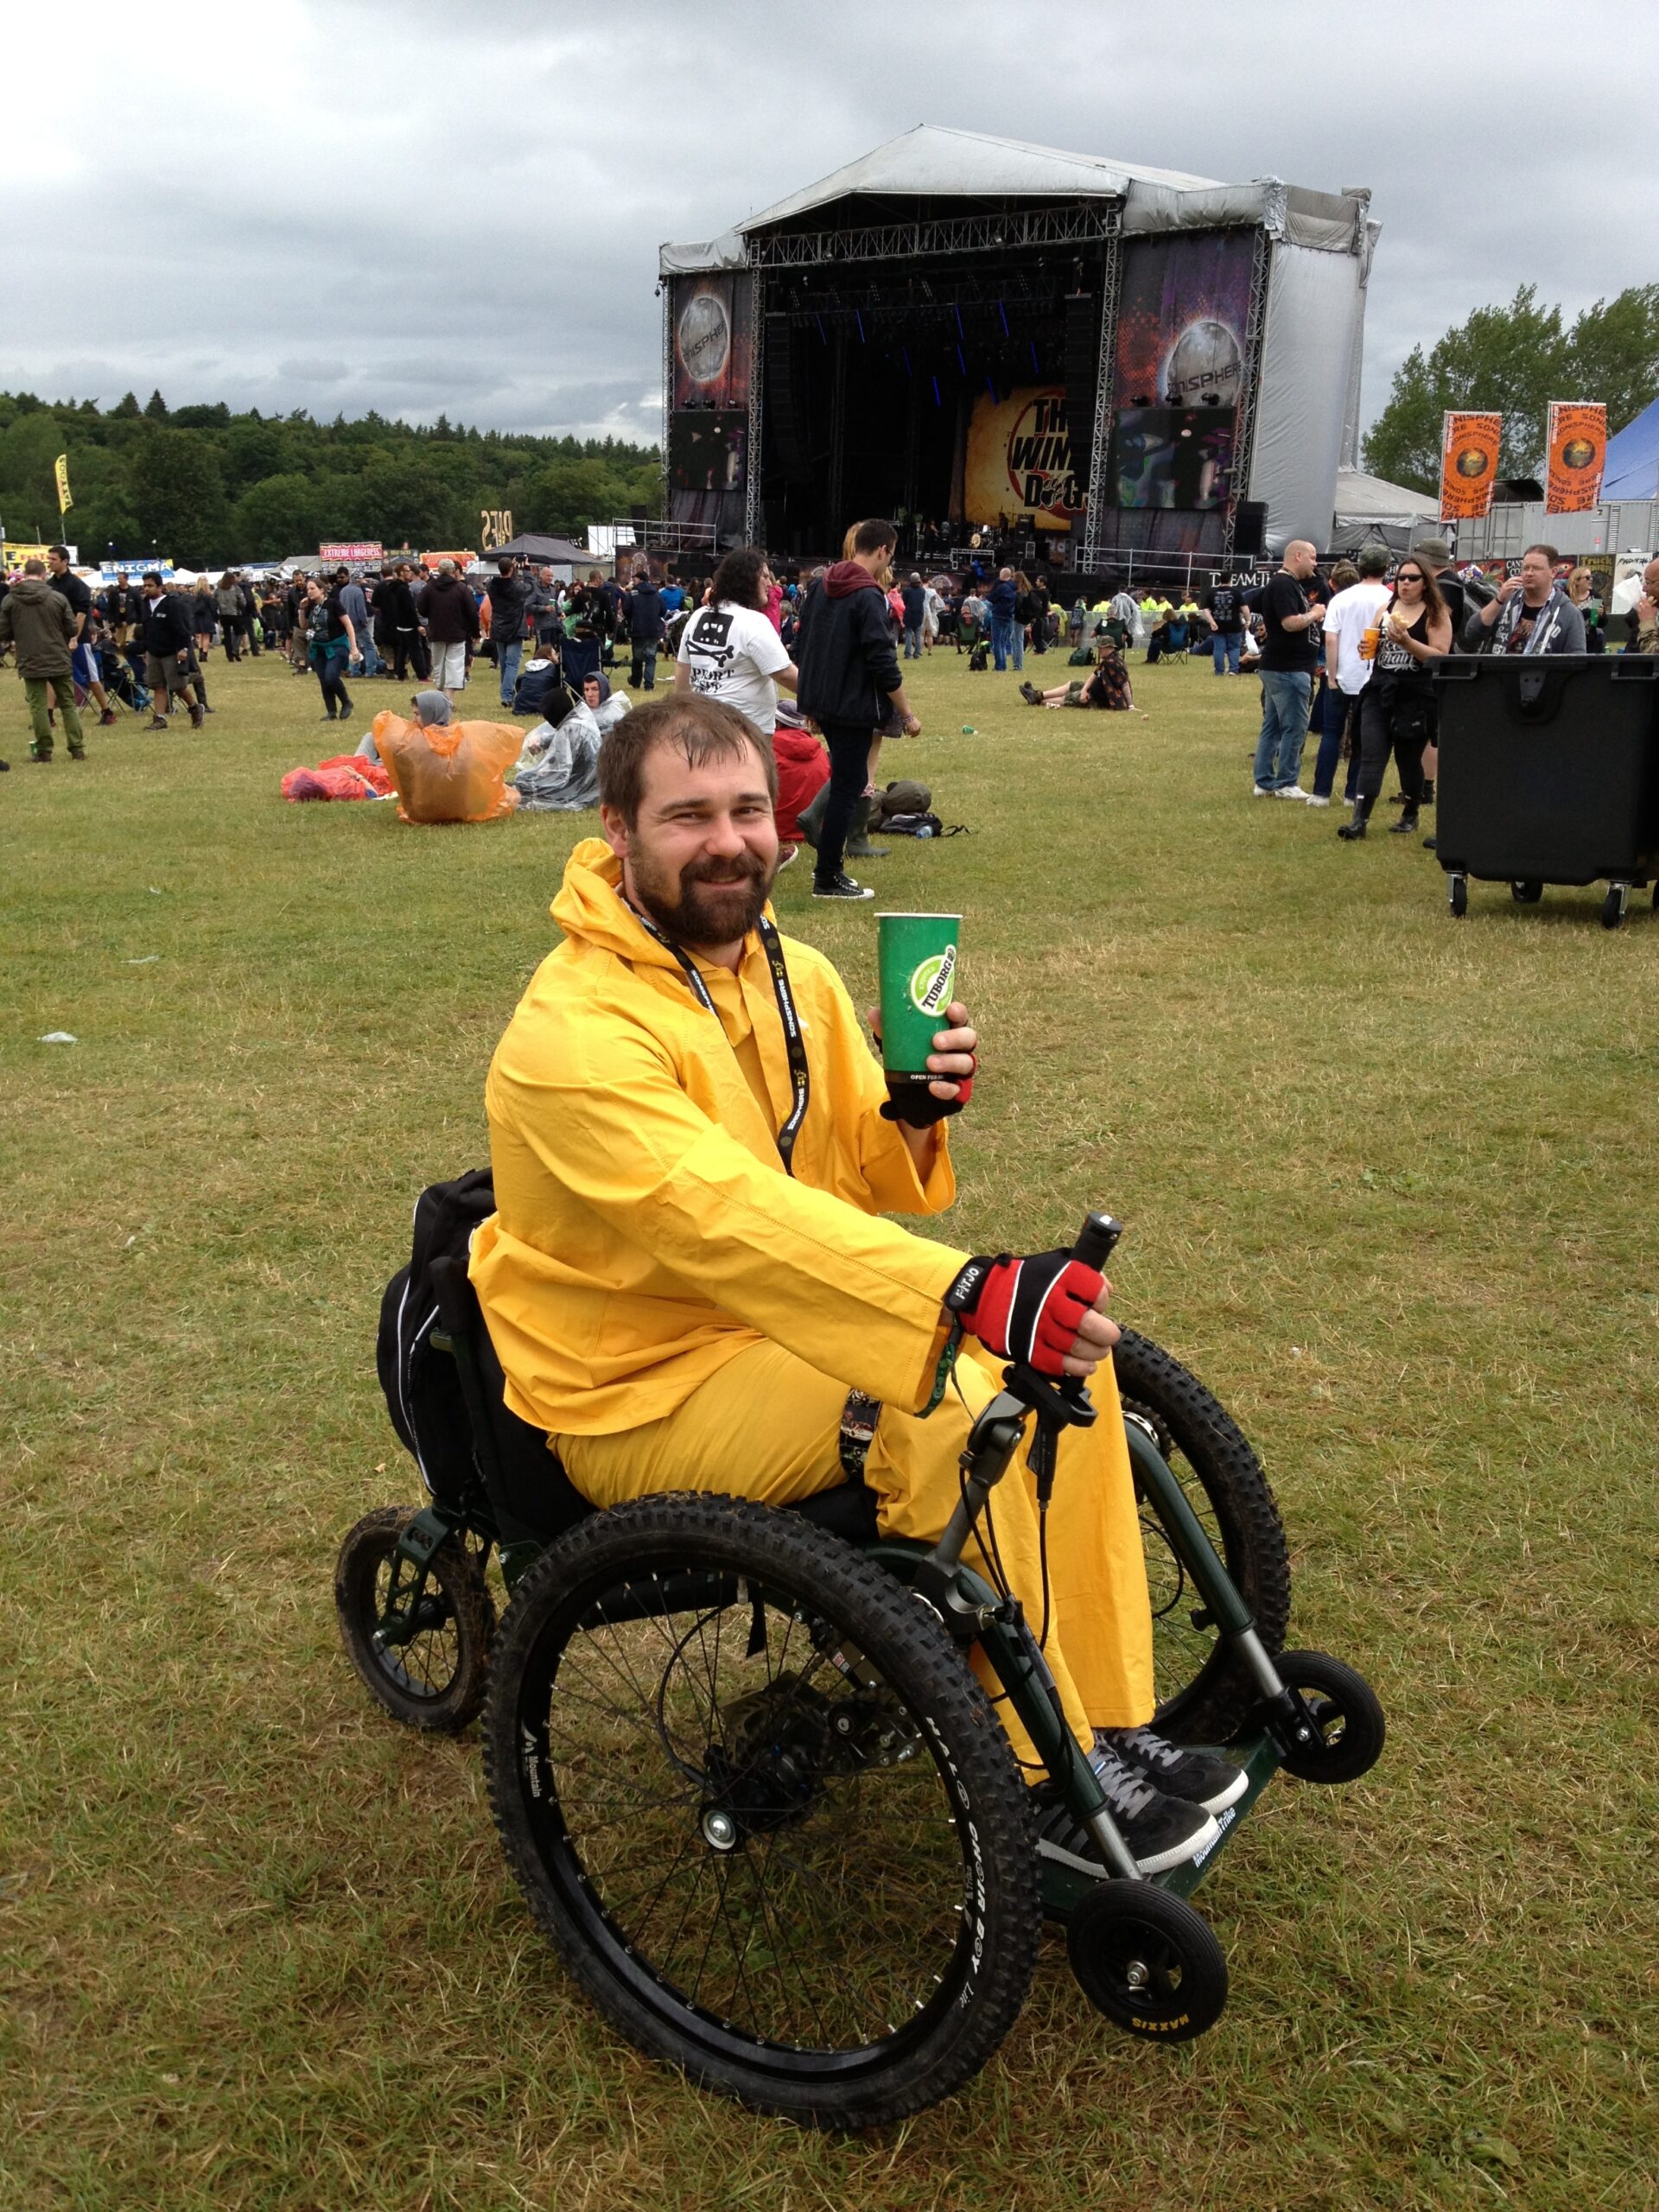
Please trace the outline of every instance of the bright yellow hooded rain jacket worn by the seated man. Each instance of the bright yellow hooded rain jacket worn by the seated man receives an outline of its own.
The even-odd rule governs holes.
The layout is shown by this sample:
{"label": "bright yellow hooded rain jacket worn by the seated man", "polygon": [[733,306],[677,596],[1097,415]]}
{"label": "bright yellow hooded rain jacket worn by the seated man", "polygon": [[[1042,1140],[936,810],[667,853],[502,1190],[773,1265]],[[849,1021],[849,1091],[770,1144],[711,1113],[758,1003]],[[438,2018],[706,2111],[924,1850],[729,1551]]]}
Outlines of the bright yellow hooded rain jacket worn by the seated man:
{"label": "bright yellow hooded rain jacket worn by the seated man", "polygon": [[575,847],[535,971],[489,1068],[495,1212],[471,1279],[507,1402],[564,1436],[661,1420],[757,1338],[905,1411],[927,1405],[940,1298],[967,1254],[883,1212],[956,1199],[945,1124],[927,1179],[847,989],[785,938],[812,1102],[783,1172],[794,1093],[765,953],[699,960],[717,1015],[622,900],[622,863]]}

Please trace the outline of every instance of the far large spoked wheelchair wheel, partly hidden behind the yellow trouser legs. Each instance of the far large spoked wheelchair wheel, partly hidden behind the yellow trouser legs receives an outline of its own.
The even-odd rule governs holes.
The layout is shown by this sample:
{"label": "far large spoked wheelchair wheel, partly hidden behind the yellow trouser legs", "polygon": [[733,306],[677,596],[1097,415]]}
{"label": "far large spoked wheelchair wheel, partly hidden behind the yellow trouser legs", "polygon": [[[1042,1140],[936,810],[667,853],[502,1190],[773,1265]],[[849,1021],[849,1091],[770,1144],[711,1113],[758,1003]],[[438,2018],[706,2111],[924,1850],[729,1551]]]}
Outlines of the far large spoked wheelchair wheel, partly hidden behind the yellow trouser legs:
{"label": "far large spoked wheelchair wheel, partly hidden behind the yellow trouser legs", "polygon": [[[1290,1624],[1290,1548],[1250,1440],[1197,1376],[1135,1329],[1124,1329],[1113,1367],[1124,1416],[1152,1436],[1254,1613],[1261,1641],[1279,1652]],[[1141,1540],[1152,1599],[1155,1725],[1177,1743],[1225,1743],[1256,1703],[1256,1688],[1221,1641],[1146,1500]]]}

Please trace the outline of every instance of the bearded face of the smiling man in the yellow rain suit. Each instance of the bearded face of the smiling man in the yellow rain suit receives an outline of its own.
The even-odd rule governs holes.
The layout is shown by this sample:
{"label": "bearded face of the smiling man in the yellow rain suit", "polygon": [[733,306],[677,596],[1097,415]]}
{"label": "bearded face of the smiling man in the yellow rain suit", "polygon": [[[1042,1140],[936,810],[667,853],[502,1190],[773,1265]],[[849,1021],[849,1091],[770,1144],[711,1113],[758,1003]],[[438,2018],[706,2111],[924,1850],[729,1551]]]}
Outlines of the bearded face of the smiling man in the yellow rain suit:
{"label": "bearded face of the smiling man in the yellow rain suit", "polygon": [[734,945],[759,922],[779,832],[754,750],[692,768],[679,745],[653,745],[639,818],[604,807],[602,827],[624,891],[677,945]]}

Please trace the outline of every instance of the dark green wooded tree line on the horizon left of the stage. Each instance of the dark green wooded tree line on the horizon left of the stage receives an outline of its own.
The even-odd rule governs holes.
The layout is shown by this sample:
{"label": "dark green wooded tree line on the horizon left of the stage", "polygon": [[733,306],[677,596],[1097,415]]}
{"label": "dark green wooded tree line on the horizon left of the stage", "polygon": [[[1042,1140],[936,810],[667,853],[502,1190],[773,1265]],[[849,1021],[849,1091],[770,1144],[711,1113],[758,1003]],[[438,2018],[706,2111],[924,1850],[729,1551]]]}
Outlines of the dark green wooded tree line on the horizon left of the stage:
{"label": "dark green wooded tree line on the horizon left of the stage", "polygon": [[[58,520],[53,460],[73,507]],[[661,513],[657,447],[619,438],[522,438],[438,416],[232,414],[223,403],[139,407],[0,392],[0,522],[11,540],[64,538],[82,560],[166,555],[201,568],[281,560],[336,538],[476,546],[482,509],[518,531],[573,535],[630,507]]]}

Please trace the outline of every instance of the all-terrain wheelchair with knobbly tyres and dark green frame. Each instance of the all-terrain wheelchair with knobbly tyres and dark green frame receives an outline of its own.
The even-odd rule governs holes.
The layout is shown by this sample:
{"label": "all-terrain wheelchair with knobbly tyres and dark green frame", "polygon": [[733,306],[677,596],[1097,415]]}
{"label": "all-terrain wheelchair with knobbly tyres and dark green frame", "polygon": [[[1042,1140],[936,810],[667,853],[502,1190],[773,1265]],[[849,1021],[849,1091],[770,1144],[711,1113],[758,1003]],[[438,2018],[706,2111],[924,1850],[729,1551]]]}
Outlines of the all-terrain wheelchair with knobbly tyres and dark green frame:
{"label": "all-terrain wheelchair with knobbly tyres and dark green frame", "polygon": [[[1115,1237],[1091,1214],[1077,1256],[1102,1265]],[[1188,1893],[1279,1767],[1323,1783],[1367,1772],[1383,1712],[1352,1668],[1283,1650],[1290,1559],[1272,1491],[1183,1367],[1130,1329],[1115,1352],[1155,1728],[1225,1747],[1248,1792],[1199,1860],[1146,1878],[1018,1601],[960,1557],[1033,1420],[1040,1495],[1053,1482],[1057,1436],[1095,1418],[1082,1385],[1006,1369],[931,1548],[883,1540],[860,1482],[787,1509],[672,1493],[599,1513],[504,1405],[460,1256],[431,1265],[431,1292],[465,1464],[420,1511],[387,1506],[345,1537],[341,1632],[396,1719],[458,1730],[484,1714],[507,1860],[615,2026],[761,2110],[891,2121],[998,2048],[1044,1916],[1064,1922],[1077,1982],[1117,2026],[1157,2042],[1212,2026],[1228,1971]],[[509,1590],[500,1626],[491,1553]],[[1108,1878],[1040,1860],[1002,1699]]]}

